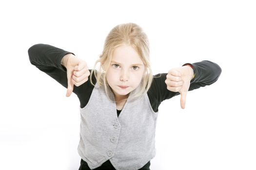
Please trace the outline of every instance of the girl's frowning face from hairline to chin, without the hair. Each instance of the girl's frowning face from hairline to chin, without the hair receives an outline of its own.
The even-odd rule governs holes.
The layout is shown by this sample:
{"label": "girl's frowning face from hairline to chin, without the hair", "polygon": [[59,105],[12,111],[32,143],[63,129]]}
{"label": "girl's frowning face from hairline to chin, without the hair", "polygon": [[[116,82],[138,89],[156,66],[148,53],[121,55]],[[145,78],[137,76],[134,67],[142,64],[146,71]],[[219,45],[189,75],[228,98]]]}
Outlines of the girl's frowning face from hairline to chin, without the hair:
{"label": "girl's frowning face from hairline to chin, without the hair", "polygon": [[116,101],[127,98],[138,87],[144,69],[142,60],[132,46],[119,46],[114,51],[110,67],[106,71],[106,79]]}

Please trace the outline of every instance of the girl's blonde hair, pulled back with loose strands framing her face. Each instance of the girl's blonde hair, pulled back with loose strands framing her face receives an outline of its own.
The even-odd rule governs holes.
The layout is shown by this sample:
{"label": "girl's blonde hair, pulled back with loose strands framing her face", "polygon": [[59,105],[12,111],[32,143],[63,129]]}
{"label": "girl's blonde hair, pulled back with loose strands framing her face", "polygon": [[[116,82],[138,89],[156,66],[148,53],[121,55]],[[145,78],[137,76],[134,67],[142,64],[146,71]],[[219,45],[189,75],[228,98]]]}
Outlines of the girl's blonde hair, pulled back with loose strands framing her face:
{"label": "girl's blonde hair, pulled back with loose strands framing her face", "polygon": [[[99,59],[95,62],[94,69],[92,69],[91,72],[91,75],[94,73],[98,85],[104,85],[107,97],[110,101],[112,100],[109,97],[109,93],[112,89],[107,83],[106,71],[110,66],[115,49],[122,45],[132,46],[134,50],[137,51],[137,53],[139,54],[140,59],[145,66],[145,71],[141,79],[141,88],[140,90],[138,90],[138,93],[133,94],[130,98],[134,99],[146,93],[149,90],[153,81],[149,57],[149,41],[147,35],[142,31],[142,28],[135,23],[125,23],[117,25],[107,35],[103,51],[99,55]],[[99,69],[96,71],[95,68],[98,63],[100,63],[100,66]],[[90,76],[90,81],[91,84],[94,85],[92,83],[92,76]]]}

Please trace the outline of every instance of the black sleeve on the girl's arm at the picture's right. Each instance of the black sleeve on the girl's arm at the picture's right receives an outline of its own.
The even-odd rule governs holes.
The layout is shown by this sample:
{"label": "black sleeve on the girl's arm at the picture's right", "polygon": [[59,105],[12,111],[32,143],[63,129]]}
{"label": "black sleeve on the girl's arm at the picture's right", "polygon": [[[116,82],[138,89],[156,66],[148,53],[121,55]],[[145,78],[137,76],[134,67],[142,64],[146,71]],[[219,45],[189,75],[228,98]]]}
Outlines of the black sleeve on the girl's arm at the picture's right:
{"label": "black sleeve on the girl's arm at the picture's right", "polygon": [[[211,61],[204,60],[190,65],[193,66],[195,77],[190,82],[189,91],[215,83],[221,73],[221,68]],[[179,95],[179,92],[172,92],[167,89],[165,84],[167,74],[154,75],[152,85],[148,91],[148,96],[155,112],[158,111],[158,106],[162,101]]]}

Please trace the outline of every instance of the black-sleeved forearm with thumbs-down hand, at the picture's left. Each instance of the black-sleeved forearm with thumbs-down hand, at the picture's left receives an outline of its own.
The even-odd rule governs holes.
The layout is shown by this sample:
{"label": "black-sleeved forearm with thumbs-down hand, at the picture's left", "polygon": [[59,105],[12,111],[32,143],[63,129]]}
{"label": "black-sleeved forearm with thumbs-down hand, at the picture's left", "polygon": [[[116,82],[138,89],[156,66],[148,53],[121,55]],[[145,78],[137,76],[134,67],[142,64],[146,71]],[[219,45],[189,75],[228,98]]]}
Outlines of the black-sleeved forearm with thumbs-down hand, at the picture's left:
{"label": "black-sleeved forearm with thumbs-down hand, at the picture's left", "polygon": [[33,45],[29,48],[28,55],[32,65],[67,88],[67,97],[72,91],[78,95],[83,88],[82,84],[90,75],[86,62],[76,57],[74,53],[48,44]]}

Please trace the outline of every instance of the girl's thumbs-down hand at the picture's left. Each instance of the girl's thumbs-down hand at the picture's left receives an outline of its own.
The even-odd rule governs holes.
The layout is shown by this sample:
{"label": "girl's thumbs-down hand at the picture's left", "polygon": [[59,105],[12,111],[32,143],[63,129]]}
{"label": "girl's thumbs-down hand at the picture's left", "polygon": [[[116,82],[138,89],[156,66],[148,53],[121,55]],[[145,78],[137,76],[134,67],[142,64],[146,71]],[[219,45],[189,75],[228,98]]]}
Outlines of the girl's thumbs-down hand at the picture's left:
{"label": "girl's thumbs-down hand at the picture's left", "polygon": [[62,59],[61,63],[67,69],[68,87],[66,97],[69,97],[73,92],[74,85],[79,86],[88,81],[90,71],[87,63],[73,54],[67,54]]}

